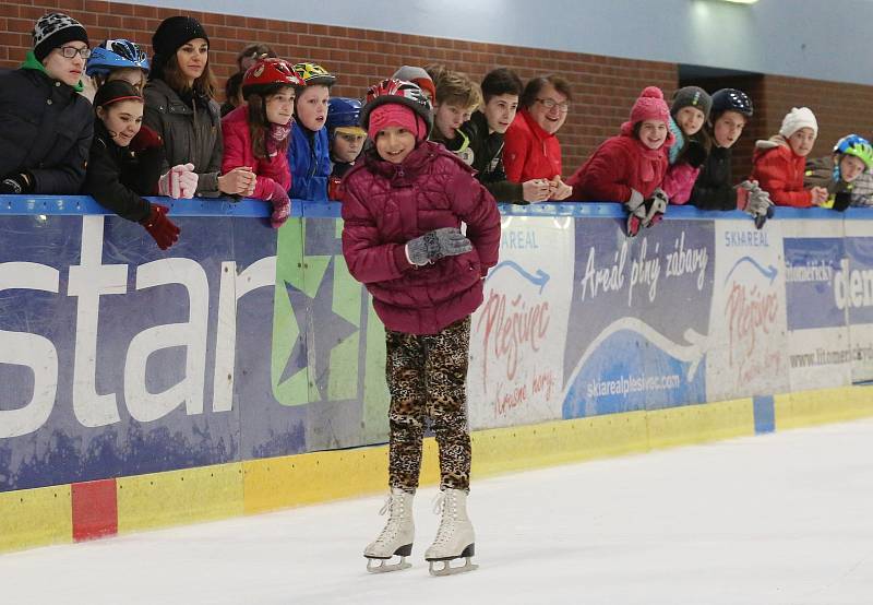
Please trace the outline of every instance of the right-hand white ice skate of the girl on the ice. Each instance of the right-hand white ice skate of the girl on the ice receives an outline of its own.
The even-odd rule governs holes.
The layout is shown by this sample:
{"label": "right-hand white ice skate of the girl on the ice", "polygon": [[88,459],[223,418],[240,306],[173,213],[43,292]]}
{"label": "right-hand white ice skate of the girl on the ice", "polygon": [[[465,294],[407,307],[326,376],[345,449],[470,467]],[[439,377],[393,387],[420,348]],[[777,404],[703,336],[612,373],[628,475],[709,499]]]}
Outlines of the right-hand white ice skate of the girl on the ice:
{"label": "right-hand white ice skate of the girl on the ice", "polygon": [[[452,576],[473,571],[479,566],[470,562],[476,551],[476,535],[473,523],[467,517],[467,493],[461,489],[446,489],[436,500],[433,512],[442,513],[436,538],[424,553],[424,560],[430,564],[431,576]],[[466,559],[465,564],[452,567],[453,559]],[[438,565],[442,561],[442,567]]]}

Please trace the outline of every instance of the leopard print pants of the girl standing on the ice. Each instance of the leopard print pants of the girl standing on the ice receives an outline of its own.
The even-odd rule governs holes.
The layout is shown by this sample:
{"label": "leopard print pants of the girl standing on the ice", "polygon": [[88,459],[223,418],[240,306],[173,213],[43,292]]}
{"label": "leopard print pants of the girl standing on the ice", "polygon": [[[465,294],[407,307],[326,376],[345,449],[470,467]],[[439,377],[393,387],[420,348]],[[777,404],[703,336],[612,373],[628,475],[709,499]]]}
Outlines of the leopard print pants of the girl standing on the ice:
{"label": "leopard print pants of the girl standing on the ice", "polygon": [[388,483],[414,493],[421,467],[421,440],[430,418],[440,449],[440,488],[469,489],[467,365],[470,318],[439,334],[385,330],[385,375],[391,392]]}

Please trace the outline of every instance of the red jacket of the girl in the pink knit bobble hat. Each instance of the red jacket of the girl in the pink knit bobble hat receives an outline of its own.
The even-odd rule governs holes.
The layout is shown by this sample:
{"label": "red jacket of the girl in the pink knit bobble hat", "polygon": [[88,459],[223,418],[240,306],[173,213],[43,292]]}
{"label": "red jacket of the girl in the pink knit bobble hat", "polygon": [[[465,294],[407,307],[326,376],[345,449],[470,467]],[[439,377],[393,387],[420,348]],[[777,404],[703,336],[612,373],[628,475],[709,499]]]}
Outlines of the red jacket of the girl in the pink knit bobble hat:
{"label": "red jacket of the girl in the pink knit bobble hat", "polygon": [[674,140],[669,132],[663,145],[650,150],[633,135],[631,122],[624,122],[621,134],[603,141],[566,180],[573,188],[571,199],[624,203],[631,199],[631,189],[648,198],[663,181]]}

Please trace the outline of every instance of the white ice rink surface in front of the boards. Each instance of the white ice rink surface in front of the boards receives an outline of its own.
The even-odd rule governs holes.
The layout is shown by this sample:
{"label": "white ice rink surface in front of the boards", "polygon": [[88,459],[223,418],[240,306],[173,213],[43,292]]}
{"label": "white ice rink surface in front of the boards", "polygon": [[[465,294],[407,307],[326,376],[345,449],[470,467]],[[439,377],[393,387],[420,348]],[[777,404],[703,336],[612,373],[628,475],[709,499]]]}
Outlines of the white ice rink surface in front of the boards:
{"label": "white ice rink surface in front of the boards", "polygon": [[10,604],[873,604],[873,420],[474,479],[475,561],[364,571],[382,498],[0,556]]}

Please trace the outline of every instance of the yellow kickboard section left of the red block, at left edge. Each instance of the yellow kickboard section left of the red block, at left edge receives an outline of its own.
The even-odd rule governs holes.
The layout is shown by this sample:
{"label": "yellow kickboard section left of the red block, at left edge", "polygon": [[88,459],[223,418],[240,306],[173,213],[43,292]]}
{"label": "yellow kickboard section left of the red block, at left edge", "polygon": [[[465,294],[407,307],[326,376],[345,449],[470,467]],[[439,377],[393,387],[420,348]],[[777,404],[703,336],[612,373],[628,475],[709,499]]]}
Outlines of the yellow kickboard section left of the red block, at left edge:
{"label": "yellow kickboard section left of the red block, at left edge", "polygon": [[69,485],[0,494],[0,553],[73,542]]}

